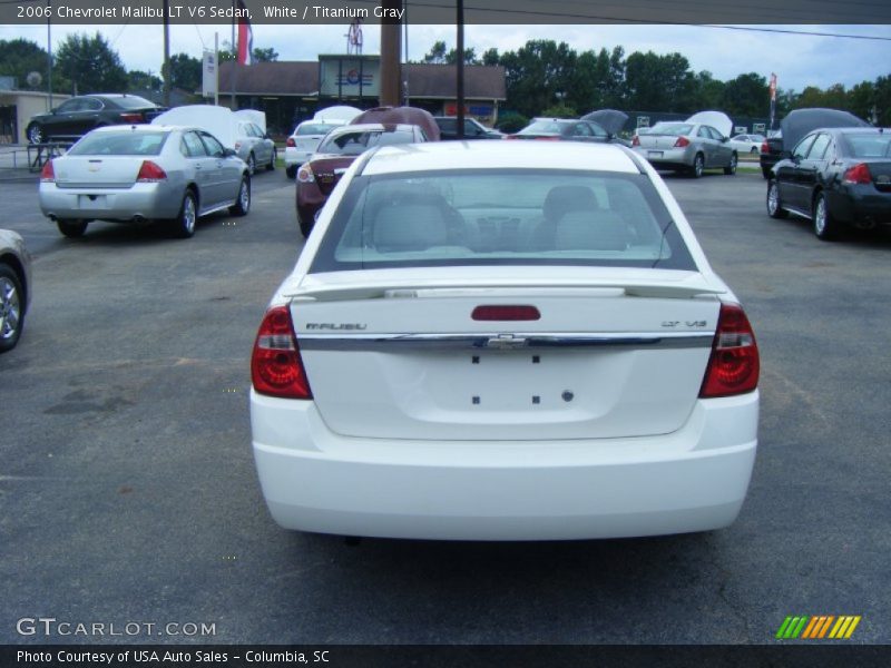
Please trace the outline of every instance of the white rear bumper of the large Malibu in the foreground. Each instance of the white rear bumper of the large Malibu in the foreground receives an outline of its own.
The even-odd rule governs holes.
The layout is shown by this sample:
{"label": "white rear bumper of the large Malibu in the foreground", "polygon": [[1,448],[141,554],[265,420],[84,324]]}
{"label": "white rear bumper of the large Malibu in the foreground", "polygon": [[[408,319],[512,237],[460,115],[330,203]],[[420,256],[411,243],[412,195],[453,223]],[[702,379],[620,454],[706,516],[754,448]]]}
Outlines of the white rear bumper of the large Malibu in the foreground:
{"label": "white rear bumper of the large Malibu in the foreground", "polygon": [[566,540],[705,531],[740,512],[757,392],[698,401],[662,436],[409,441],[333,433],[311,401],[252,391],[263,494],[286,529],[390,538]]}

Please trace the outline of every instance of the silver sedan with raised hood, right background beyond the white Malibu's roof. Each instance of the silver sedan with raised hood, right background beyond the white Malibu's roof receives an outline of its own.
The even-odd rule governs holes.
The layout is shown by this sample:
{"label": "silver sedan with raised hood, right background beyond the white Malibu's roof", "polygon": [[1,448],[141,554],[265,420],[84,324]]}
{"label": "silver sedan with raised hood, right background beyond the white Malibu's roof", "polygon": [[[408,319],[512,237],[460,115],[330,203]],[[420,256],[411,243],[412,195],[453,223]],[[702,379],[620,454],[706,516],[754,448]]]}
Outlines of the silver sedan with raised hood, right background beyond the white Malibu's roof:
{"label": "silver sedan with raised hood, right background beyond the white Malibu's roof", "polygon": [[704,169],[714,168],[736,174],[736,150],[726,136],[708,125],[657,122],[635,135],[631,147],[656,169],[687,171],[695,178],[701,177]]}

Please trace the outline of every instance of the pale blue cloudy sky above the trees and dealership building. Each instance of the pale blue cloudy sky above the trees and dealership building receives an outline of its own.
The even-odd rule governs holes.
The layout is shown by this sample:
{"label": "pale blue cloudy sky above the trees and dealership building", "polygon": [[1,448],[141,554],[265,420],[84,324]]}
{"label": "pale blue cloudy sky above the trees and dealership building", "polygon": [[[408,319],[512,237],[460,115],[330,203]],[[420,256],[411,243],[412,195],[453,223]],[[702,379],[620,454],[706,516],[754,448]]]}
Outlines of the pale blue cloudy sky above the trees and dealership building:
{"label": "pale blue cloudy sky above the trees and dealership building", "polygon": [[[678,51],[694,71],[708,70],[722,80],[740,73],[776,72],[781,88],[801,91],[806,86],[826,88],[833,84],[851,87],[891,73],[891,26],[760,26],[757,29],[794,30],[882,37],[884,40],[792,36],[755,30],[727,30],[702,26],[468,26],[464,42],[478,55],[491,47],[500,52],[516,50],[530,39],[566,41],[577,51],[623,46],[626,55],[653,50]],[[160,70],[160,26],[52,26],[53,48],[70,32],[100,31],[118,51],[128,69]],[[343,53],[347,26],[254,26],[254,46],[272,47],[280,60],[315,60],[319,53]],[[214,32],[221,42],[232,37],[231,26],[173,26],[170,53],[200,57],[213,49]],[[0,26],[0,39],[25,37],[46,48],[47,29],[41,26]],[[451,48],[453,26],[410,26],[409,58],[419,60],[437,40]],[[404,49],[404,46],[403,46]],[[380,52],[380,28],[364,28],[364,53]]]}

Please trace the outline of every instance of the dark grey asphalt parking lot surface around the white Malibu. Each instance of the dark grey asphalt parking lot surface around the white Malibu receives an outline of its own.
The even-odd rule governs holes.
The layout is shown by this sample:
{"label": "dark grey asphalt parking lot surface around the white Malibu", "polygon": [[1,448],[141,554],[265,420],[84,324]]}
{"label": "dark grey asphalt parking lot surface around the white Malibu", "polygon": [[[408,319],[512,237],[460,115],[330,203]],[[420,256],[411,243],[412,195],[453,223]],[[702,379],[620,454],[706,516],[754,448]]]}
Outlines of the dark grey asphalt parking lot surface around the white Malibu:
{"label": "dark grey asphalt parking lot surface around the white Malibu", "polygon": [[[737,522],[359,544],[278,529],[254,472],[251,347],[302,246],[283,173],[188,240],[111,224],[65,239],[36,179],[0,181],[0,226],[35,255],[25,334],[0,356],[0,642],[768,644],[787,615],[860,615],[852,642],[891,642],[891,236],[826,244],[771,219],[758,173],[666,180],[758,337]],[[37,617],[156,626],[17,631]]]}

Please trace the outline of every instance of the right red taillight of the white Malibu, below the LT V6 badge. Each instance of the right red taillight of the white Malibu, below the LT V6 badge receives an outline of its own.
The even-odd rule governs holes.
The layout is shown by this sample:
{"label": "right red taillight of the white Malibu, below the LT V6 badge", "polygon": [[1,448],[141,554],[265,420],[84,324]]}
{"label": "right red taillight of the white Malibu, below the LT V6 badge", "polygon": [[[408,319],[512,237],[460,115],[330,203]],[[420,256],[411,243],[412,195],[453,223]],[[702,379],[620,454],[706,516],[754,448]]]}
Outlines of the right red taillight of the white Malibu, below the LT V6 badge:
{"label": "right red taillight of the white Malibu, below the LT V6 badge", "polygon": [[722,304],[701,399],[732,396],[758,386],[758,346],[738,304]]}

